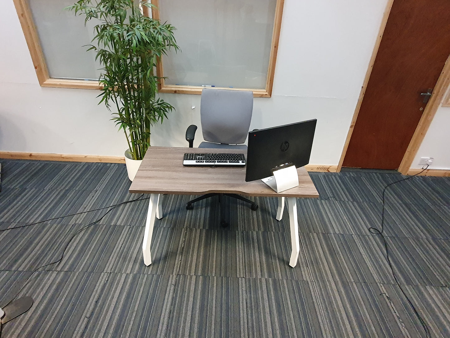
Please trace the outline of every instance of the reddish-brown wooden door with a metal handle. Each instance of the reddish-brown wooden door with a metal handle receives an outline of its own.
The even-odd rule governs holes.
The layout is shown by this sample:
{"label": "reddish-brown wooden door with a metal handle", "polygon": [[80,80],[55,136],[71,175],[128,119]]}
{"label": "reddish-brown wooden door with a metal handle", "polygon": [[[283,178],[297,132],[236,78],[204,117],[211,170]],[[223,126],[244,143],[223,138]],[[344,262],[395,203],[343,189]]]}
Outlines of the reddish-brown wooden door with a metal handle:
{"label": "reddish-brown wooden door with a metal handle", "polygon": [[[449,0],[394,0],[342,166],[398,169],[450,54]],[[428,96],[429,97],[429,96]]]}

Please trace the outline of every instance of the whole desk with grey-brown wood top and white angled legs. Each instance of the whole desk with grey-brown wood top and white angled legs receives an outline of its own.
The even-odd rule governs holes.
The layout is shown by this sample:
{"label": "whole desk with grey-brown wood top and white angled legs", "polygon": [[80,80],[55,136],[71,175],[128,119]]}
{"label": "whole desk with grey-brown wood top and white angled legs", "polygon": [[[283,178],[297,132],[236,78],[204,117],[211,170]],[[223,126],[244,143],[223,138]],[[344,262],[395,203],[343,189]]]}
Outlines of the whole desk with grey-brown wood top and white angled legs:
{"label": "whole desk with grey-brown wood top and white angled legs", "polygon": [[[289,265],[297,264],[300,242],[297,222],[297,197],[319,197],[314,183],[304,167],[298,168],[298,187],[276,193],[261,180],[245,182],[245,167],[184,167],[187,152],[224,152],[236,150],[202,148],[150,147],[131,183],[130,192],[150,194],[142,251],[145,265],[152,263],[150,244],[155,217],[162,218],[159,194],[202,195],[210,192],[244,196],[278,197],[277,220],[283,217],[284,197],[288,200],[292,253]],[[195,212],[195,211],[194,211]]]}

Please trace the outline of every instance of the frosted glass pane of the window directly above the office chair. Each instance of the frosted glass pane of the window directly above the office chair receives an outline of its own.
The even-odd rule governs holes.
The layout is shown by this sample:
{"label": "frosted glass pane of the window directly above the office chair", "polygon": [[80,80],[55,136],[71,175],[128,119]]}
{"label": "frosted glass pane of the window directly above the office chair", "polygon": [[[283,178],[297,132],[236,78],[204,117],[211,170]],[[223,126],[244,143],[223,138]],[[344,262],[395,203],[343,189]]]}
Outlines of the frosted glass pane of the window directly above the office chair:
{"label": "frosted glass pane of the window directly above the office chair", "polygon": [[265,89],[276,0],[159,0],[181,52],[164,56],[167,85]]}

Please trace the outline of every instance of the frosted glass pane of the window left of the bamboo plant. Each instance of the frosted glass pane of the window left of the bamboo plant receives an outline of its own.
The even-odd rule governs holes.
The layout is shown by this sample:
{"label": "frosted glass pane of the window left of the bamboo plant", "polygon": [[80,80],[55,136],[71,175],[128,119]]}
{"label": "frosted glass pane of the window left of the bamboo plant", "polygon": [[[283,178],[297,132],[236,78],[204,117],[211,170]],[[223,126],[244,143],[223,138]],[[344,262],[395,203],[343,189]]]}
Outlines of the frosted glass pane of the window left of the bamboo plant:
{"label": "frosted glass pane of the window left of the bamboo plant", "polygon": [[50,78],[98,80],[100,64],[95,53],[86,52],[94,37],[94,20],[64,8],[76,0],[29,0]]}

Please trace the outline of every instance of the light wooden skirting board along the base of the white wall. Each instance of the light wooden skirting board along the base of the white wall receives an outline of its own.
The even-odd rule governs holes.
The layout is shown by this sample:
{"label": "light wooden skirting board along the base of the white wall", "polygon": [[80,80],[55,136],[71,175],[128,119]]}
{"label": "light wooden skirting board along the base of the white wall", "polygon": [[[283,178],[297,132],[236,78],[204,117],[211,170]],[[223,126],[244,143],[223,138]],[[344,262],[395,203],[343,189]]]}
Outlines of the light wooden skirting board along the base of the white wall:
{"label": "light wooden skirting board along the base of the white wall", "polygon": [[[0,159],[12,160],[44,160],[44,161],[66,161],[66,162],[102,162],[102,163],[125,163],[122,156],[103,156],[103,155],[67,155],[67,154],[46,154],[46,153],[27,153],[16,151],[0,151]],[[336,173],[337,165],[317,165],[307,164],[306,170],[317,172]],[[410,169],[408,175],[418,174],[422,169]],[[426,176],[447,176],[450,177],[450,170],[427,169],[420,175]]]}

